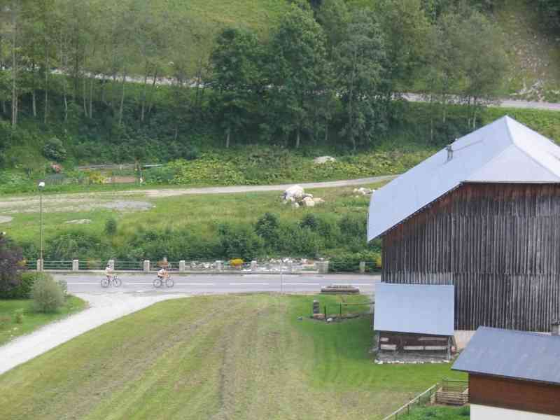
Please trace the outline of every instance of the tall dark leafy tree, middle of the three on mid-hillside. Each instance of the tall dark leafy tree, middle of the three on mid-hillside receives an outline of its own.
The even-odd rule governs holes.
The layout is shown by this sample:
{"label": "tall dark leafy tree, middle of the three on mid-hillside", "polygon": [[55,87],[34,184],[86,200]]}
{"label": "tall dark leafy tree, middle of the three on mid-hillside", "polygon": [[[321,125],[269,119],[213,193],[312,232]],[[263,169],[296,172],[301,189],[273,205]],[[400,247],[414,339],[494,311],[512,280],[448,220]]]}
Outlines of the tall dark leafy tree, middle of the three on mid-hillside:
{"label": "tall dark leafy tree, middle of the three on mid-hillside", "polygon": [[328,89],[325,34],[309,8],[292,5],[272,35],[268,72],[276,127],[286,137],[295,132],[300,147],[303,130],[312,130],[314,99]]}

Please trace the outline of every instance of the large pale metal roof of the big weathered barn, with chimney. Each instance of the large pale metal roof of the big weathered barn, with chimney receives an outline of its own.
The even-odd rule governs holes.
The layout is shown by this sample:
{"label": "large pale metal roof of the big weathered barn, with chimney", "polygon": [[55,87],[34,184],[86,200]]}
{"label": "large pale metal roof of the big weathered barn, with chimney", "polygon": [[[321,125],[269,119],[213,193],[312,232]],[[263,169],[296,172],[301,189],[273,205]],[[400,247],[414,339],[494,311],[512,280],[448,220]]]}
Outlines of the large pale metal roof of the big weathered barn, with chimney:
{"label": "large pale metal roof of the big weathered barn, with chimney", "polygon": [[443,148],[372,195],[368,241],[463,182],[560,182],[560,147],[507,116],[461,137],[451,148],[451,160]]}

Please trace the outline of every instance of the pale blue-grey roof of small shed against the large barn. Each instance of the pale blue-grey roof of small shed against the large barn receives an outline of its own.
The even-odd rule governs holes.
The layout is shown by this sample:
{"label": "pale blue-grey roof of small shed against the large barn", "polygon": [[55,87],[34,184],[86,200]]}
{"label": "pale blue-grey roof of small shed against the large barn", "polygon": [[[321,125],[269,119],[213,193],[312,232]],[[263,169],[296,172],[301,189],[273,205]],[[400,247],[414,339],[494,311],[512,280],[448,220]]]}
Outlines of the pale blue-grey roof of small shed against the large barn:
{"label": "pale blue-grey roof of small shed against the large barn", "polygon": [[454,335],[454,286],[377,283],[374,330]]}

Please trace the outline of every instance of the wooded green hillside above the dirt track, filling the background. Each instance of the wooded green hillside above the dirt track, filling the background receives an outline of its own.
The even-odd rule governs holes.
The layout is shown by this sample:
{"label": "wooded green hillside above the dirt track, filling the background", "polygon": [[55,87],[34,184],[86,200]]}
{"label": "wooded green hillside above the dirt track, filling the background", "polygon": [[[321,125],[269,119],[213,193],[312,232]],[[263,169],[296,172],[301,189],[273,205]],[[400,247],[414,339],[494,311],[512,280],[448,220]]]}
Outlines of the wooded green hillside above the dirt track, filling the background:
{"label": "wooded green hillside above the dirt track, filling the background", "polygon": [[[0,50],[16,65],[0,72],[0,192],[32,190],[45,176],[49,186],[99,183],[99,174],[74,168],[111,162],[181,160],[146,172],[158,184],[395,174],[504,113],[557,141],[554,113],[486,109],[498,94],[555,99],[560,41],[540,13],[524,0],[493,10],[472,0],[466,11],[449,0],[434,2],[447,6],[432,15],[428,3],[97,0],[76,8],[56,0],[45,15],[25,3],[3,16],[18,20],[21,34],[15,44],[4,37]],[[368,13],[371,5],[379,8]],[[481,33],[504,45],[484,44]],[[349,85],[346,46],[360,42],[372,55],[354,63],[363,71]],[[437,61],[440,50],[449,62]],[[472,66],[478,59],[485,72]],[[449,64],[460,69],[441,76]],[[171,78],[157,85],[153,76]],[[428,85],[426,104],[390,100]],[[321,155],[338,162],[318,167]]]}

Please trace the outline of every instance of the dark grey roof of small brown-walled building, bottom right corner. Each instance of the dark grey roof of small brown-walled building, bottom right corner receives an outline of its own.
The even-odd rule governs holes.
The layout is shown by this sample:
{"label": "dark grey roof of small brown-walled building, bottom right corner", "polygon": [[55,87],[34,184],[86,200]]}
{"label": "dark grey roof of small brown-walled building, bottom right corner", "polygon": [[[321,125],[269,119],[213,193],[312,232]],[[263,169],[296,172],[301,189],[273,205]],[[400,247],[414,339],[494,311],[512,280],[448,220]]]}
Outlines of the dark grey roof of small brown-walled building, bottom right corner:
{"label": "dark grey roof of small brown-walled building, bottom right corner", "polygon": [[452,369],[560,384],[560,337],[481,327]]}

